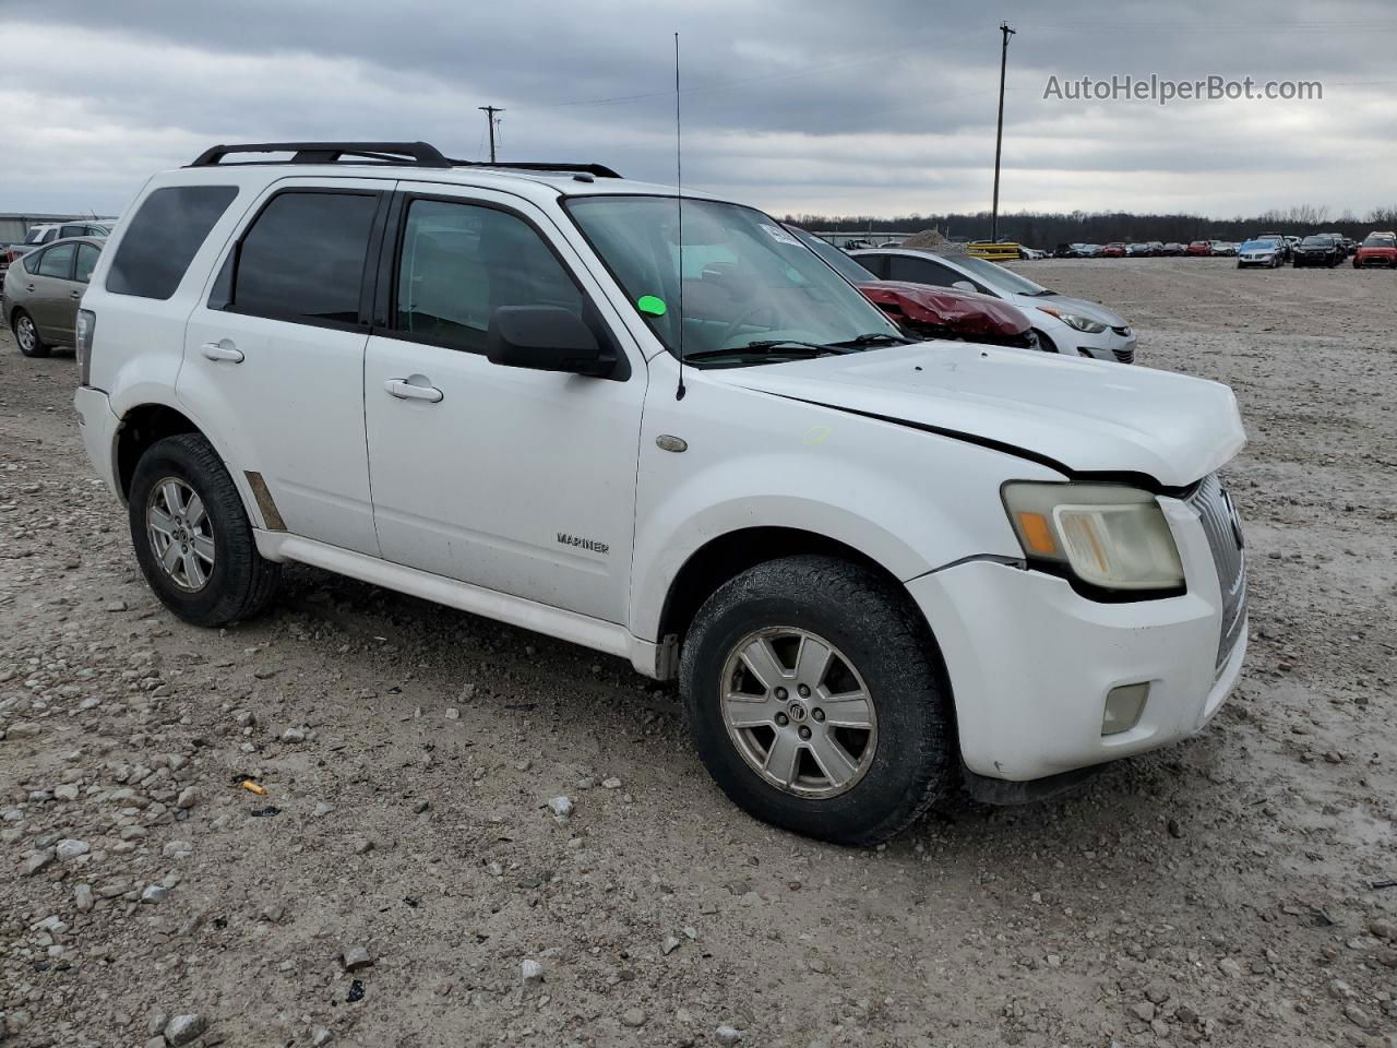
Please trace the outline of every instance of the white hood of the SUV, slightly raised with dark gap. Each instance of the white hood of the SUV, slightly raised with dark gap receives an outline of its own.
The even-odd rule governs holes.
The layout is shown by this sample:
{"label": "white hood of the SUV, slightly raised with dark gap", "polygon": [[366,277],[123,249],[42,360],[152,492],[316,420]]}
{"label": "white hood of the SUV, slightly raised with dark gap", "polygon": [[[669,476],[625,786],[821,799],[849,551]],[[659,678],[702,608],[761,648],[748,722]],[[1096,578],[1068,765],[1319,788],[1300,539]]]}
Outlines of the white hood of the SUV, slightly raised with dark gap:
{"label": "white hood of the SUV, slightly raised with dark gap", "polygon": [[919,342],[705,372],[749,390],[1020,449],[1073,472],[1137,472],[1182,488],[1246,443],[1227,386],[1150,367]]}

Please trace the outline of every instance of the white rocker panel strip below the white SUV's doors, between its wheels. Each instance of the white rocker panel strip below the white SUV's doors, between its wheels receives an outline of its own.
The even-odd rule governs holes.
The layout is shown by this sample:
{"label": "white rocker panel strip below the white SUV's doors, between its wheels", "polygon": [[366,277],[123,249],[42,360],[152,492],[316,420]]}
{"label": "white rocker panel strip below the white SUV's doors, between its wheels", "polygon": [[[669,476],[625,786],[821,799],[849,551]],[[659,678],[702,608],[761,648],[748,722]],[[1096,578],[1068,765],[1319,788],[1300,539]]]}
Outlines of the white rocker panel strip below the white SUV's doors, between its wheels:
{"label": "white rocker panel strip below the white SUV's doors, between its wheels", "polygon": [[257,552],[268,560],[295,560],[323,567],[386,590],[420,597],[423,601],[444,604],[496,622],[507,622],[594,651],[605,651],[608,655],[627,660],[637,674],[650,678],[662,676],[666,669],[664,664],[671,661],[666,646],[641,640],[615,622],[604,622],[563,608],[527,601],[522,597],[444,578],[282,531],[254,528],[253,535],[257,539]]}

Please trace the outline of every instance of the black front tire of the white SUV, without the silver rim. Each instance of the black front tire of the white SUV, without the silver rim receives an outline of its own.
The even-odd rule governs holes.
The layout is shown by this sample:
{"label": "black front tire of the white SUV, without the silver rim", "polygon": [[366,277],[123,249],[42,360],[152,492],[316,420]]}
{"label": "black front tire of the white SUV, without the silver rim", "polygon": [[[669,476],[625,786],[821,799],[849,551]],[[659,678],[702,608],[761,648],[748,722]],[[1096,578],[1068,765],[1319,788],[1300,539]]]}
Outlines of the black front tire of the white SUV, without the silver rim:
{"label": "black front tire of the white SUV, without the silver rim", "polygon": [[[799,796],[767,781],[724,722],[719,696],[729,655],[754,632],[777,626],[833,644],[872,697],[877,732],[868,770],[833,796]],[[866,567],[802,555],[757,565],[728,581],[685,637],[679,681],[708,773],[733,803],[774,826],[869,847],[951,789],[957,746],[940,654],[907,594]],[[814,720],[812,711],[810,727]]]}

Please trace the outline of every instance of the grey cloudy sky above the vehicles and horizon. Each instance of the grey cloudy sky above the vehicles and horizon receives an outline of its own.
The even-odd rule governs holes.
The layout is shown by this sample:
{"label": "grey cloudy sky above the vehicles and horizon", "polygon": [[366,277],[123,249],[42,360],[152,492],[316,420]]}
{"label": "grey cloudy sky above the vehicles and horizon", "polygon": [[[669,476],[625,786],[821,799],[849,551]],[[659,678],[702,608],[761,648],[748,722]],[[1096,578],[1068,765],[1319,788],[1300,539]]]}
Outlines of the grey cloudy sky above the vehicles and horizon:
{"label": "grey cloudy sky above the vehicles and horizon", "polygon": [[[423,138],[685,177],[777,212],[1397,205],[1390,0],[0,0],[0,211],[124,208],[207,145]],[[1111,75],[1317,80],[1320,101],[1073,102]]]}

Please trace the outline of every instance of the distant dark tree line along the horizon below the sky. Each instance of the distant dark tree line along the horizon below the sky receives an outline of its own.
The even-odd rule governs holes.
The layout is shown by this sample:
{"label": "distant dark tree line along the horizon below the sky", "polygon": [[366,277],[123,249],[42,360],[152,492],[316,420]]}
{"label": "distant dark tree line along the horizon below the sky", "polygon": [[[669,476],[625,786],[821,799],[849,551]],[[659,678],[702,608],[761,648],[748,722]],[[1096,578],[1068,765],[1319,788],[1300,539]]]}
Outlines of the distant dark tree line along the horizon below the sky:
{"label": "distant dark tree line along the horizon below the sky", "polygon": [[[936,229],[950,240],[988,240],[990,217],[988,211],[975,214],[909,214],[891,218],[870,215],[787,215],[788,222],[837,233],[919,232]],[[1260,215],[1236,218],[1207,218],[1183,214],[1132,214],[1129,211],[1017,211],[1000,214],[999,236],[1032,247],[1053,247],[1059,243],[1111,243],[1125,240],[1248,240],[1257,233],[1277,232],[1305,236],[1306,233],[1338,232],[1355,240],[1375,229],[1397,229],[1397,205],[1377,207],[1366,217],[1351,211],[1334,214],[1323,204],[1298,204]]]}

